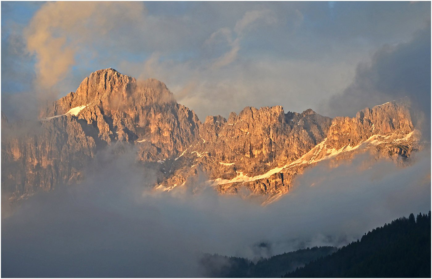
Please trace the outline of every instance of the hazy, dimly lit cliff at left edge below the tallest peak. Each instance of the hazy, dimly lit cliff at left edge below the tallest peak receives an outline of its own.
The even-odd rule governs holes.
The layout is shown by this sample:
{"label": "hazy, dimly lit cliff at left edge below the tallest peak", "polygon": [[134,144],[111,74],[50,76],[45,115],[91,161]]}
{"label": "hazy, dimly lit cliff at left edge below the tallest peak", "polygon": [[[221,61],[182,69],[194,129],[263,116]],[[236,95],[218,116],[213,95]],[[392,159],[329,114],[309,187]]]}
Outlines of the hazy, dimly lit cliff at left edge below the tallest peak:
{"label": "hazy, dimly lit cliff at left edge below the tallest peak", "polygon": [[2,123],[2,191],[23,198],[83,179],[96,152],[94,139],[83,128],[66,116],[6,127]]}

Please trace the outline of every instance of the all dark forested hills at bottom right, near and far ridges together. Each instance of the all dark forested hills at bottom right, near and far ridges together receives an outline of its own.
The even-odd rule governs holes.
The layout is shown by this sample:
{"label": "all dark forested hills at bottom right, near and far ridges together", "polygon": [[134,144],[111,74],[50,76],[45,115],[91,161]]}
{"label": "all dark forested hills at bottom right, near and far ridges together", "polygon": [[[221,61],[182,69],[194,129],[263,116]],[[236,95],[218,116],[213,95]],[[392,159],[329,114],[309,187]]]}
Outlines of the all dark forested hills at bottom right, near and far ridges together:
{"label": "all dark forested hills at bottom right, near and far ridges together", "polygon": [[261,259],[206,254],[207,277],[430,277],[431,211],[365,233],[340,249],[313,247]]}

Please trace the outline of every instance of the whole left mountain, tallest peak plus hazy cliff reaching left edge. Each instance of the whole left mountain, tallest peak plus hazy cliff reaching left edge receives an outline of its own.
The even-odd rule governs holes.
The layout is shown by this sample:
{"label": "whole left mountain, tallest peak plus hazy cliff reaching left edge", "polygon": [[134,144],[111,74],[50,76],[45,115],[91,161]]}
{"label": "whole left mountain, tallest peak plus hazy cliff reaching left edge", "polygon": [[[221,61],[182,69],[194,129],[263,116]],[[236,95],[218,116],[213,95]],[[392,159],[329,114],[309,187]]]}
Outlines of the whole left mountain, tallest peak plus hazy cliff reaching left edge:
{"label": "whole left mountain, tallest peak plus hazy cliff reaching left edge", "polygon": [[137,144],[142,161],[172,157],[199,124],[162,82],[96,71],[43,108],[38,122],[2,125],[2,191],[20,199],[80,182],[95,154],[118,142]]}

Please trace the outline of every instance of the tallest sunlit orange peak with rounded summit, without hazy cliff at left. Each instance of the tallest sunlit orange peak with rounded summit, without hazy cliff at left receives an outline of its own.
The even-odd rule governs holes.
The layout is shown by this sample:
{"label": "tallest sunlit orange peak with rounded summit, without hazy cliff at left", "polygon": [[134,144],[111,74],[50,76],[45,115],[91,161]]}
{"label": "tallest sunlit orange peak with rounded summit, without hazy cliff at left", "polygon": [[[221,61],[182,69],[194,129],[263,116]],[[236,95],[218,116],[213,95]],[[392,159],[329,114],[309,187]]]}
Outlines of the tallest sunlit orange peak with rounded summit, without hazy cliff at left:
{"label": "tallest sunlit orange peak with rounded summit, without hazy cliff at left", "polygon": [[74,108],[79,108],[78,121],[92,126],[102,145],[146,141],[143,160],[171,157],[198,134],[198,117],[176,103],[165,84],[152,78],[137,82],[114,69],[93,72],[76,92],[55,101],[40,116],[49,118]]}

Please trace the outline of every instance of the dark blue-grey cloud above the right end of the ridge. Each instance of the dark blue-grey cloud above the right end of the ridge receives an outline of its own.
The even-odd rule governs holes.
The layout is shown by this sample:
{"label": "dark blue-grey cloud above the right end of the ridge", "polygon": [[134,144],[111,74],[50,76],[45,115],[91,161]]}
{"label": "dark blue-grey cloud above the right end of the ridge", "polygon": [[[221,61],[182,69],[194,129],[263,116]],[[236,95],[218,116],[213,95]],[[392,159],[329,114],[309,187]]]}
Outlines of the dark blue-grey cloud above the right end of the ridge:
{"label": "dark blue-grey cloud above the right end of the ridge", "polygon": [[[356,111],[391,100],[410,97],[415,109],[430,119],[431,28],[418,30],[413,38],[394,46],[385,45],[361,63],[351,85],[330,97],[331,116],[353,116]],[[424,126],[430,126],[430,122]]]}

